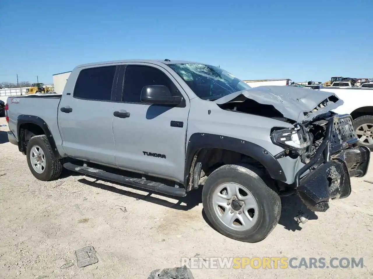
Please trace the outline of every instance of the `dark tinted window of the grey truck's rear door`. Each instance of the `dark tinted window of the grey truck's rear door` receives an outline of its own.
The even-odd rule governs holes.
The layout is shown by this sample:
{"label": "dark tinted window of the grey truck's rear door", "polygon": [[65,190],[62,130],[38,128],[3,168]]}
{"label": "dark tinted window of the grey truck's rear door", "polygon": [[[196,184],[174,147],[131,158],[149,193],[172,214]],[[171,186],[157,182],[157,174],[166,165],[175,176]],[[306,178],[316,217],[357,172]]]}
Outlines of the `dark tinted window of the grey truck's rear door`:
{"label": "dark tinted window of the grey truck's rear door", "polygon": [[116,66],[81,70],[74,88],[74,97],[90,100],[111,100]]}

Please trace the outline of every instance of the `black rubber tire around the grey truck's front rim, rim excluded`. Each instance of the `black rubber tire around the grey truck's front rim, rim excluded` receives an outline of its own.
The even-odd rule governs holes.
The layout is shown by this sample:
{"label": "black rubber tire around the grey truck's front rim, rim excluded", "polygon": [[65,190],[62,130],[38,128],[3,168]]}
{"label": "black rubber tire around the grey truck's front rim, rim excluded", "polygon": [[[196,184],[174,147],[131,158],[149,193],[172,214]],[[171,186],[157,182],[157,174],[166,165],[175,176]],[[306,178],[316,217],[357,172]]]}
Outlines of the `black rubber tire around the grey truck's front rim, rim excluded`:
{"label": "black rubber tire around the grey truck's front rim, rim excluded", "polygon": [[[214,170],[202,190],[203,208],[213,227],[234,240],[255,243],[266,238],[278,224],[281,200],[260,177],[261,172],[252,166],[225,165]],[[257,221],[248,230],[237,231],[220,221],[213,208],[213,193],[223,183],[235,182],[250,191],[258,206]]]}

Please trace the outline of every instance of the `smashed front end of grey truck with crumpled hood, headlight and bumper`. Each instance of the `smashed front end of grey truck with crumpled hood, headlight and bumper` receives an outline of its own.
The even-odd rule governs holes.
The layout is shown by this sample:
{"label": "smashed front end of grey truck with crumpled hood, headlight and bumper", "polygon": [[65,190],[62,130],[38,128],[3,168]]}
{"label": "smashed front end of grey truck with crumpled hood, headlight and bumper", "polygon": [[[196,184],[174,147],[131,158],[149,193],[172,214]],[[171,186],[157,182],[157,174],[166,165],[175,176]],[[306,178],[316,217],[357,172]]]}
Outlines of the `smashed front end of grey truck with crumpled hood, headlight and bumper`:
{"label": "smashed front end of grey truck with crumpled hood, headlight and bumper", "polygon": [[[312,91],[312,90],[311,90]],[[370,150],[357,144],[350,115],[333,109],[343,104],[335,94],[288,86],[261,86],[232,93],[215,101],[225,110],[278,119],[294,128],[272,127],[273,144],[283,148],[276,159],[296,164],[293,188],[312,211],[325,212],[332,199],[351,193],[350,177],[367,173]]]}

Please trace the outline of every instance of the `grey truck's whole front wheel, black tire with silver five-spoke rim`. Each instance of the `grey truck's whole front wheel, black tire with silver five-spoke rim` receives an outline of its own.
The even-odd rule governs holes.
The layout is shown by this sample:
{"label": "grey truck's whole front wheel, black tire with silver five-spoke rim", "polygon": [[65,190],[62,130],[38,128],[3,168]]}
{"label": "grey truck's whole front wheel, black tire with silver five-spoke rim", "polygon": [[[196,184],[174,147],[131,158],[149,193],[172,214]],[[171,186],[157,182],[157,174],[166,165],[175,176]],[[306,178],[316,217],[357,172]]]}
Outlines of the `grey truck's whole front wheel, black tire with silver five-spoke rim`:
{"label": "grey truck's whole front wheel, black tire with silver five-spoke rim", "polygon": [[221,234],[244,242],[263,240],[281,214],[279,195],[252,167],[225,165],[213,171],[202,191],[207,218]]}

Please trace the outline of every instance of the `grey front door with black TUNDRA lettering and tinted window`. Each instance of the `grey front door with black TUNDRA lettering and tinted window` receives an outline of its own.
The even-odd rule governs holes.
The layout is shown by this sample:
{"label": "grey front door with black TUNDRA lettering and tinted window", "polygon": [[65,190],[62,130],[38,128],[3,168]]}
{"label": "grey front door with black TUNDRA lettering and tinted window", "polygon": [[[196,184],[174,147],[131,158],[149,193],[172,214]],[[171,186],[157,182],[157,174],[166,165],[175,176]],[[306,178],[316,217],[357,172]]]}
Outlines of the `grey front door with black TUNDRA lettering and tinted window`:
{"label": "grey front door with black TUNDRA lettering and tinted window", "polygon": [[[113,118],[117,166],[183,181],[188,97],[175,78],[158,65],[124,65],[124,71]],[[167,86],[184,101],[178,106],[142,103],[142,87],[149,85]]]}

